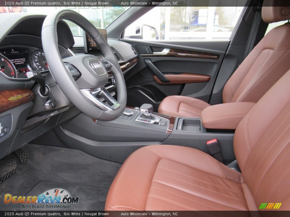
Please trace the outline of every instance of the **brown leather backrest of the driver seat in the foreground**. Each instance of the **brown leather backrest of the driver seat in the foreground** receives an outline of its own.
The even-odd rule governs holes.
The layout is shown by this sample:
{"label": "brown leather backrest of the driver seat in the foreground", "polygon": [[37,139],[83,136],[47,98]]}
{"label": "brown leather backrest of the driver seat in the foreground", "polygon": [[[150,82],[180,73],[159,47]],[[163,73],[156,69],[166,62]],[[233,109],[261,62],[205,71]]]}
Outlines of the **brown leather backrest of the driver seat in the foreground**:
{"label": "brown leather backrest of the driver seat in the foreground", "polygon": [[290,209],[290,70],[242,119],[234,152],[256,206]]}

